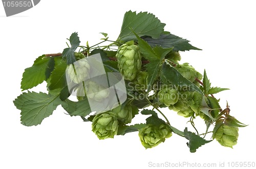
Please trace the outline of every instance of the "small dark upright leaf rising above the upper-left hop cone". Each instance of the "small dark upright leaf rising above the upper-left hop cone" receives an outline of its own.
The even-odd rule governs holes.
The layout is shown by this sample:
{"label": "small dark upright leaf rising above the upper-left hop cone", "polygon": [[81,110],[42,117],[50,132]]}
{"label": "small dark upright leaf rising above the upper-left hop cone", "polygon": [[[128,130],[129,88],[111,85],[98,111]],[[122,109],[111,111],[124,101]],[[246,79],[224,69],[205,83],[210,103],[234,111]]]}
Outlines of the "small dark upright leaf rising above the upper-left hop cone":
{"label": "small dark upright leaf rising above the upper-left hop cone", "polygon": [[67,59],[67,64],[68,65],[73,64],[74,62],[76,62],[74,52],[80,44],[78,34],[76,32],[73,33],[70,36],[69,41],[70,41],[71,47],[68,47],[68,48],[64,49],[63,52],[62,52],[62,58]]}

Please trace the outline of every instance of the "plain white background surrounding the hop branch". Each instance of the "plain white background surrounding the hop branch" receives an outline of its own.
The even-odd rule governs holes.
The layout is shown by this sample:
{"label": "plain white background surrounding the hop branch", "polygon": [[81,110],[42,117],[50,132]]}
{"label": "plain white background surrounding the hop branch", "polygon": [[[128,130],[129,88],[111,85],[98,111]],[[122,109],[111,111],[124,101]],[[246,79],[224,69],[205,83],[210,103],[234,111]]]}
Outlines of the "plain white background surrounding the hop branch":
{"label": "plain white background surrounding the hop branch", "polygon": [[[34,8],[6,17],[0,5],[1,110],[0,168],[149,168],[153,163],[255,162],[255,30],[253,1],[41,1]],[[173,135],[145,150],[138,133],[98,140],[91,123],[69,117],[58,107],[41,125],[20,124],[13,100],[20,95],[25,68],[41,54],[62,52],[66,38],[78,32],[81,44],[99,42],[100,32],[116,40],[126,11],[155,14],[165,30],[190,40],[202,51],[181,52],[213,86],[231,90],[217,94],[230,114],[249,126],[240,128],[238,144],[222,147],[214,140],[189,153],[187,140]],[[45,91],[45,83],[33,89]],[[163,109],[173,126],[188,119]],[[138,116],[135,121],[142,121]],[[204,131],[203,123],[196,124]]]}

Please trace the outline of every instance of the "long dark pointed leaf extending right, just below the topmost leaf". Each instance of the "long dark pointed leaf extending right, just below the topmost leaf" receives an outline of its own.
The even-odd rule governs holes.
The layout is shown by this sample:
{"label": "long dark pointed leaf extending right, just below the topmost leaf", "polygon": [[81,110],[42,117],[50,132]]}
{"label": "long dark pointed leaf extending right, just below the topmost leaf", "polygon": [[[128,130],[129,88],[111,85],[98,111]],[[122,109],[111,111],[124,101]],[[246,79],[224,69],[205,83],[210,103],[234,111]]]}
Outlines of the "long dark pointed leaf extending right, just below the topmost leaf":
{"label": "long dark pointed leaf extending right, just below the topmost leaf", "polygon": [[173,47],[174,51],[185,51],[185,50],[202,50],[197,47],[190,45],[188,40],[182,39],[172,34],[162,34],[159,38],[146,37],[143,38],[151,46],[161,46],[162,48]]}

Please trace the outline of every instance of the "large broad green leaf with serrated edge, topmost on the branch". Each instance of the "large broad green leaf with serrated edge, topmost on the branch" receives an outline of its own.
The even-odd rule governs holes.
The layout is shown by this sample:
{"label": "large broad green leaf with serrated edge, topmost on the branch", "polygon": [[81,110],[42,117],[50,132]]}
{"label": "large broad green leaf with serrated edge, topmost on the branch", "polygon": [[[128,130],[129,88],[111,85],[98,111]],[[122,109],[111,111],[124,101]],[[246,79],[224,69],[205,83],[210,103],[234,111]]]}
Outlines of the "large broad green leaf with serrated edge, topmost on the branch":
{"label": "large broad green leaf with serrated edge, topmost on the branch", "polygon": [[156,39],[162,34],[164,26],[165,24],[161,23],[160,20],[151,13],[140,12],[136,14],[136,12],[128,11],[124,14],[121,32],[117,41],[127,42],[135,40],[136,37],[131,29],[140,37],[151,36]]}

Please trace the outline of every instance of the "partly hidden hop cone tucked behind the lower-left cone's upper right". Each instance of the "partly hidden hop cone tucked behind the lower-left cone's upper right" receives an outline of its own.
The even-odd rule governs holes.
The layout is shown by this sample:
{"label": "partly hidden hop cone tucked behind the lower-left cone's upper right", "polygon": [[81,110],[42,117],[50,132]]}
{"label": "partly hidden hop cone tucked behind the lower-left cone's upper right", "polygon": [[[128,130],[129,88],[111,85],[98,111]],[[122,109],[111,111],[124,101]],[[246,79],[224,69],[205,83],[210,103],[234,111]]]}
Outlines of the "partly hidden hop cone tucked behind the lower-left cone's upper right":
{"label": "partly hidden hop cone tucked behind the lower-left cone's upper right", "polygon": [[119,123],[128,124],[132,122],[133,110],[130,104],[126,104],[125,106],[119,105],[113,108],[112,111],[116,113]]}

